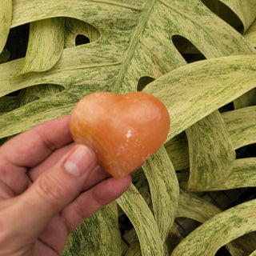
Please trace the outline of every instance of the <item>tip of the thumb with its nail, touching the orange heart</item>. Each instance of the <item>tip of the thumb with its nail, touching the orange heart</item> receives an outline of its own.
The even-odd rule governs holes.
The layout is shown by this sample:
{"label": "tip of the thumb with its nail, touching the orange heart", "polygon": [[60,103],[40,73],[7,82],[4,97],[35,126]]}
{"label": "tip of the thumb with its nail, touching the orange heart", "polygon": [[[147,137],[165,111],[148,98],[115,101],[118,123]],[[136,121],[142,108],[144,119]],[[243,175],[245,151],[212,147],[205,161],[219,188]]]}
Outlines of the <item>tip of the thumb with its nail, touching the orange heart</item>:
{"label": "tip of the thumb with its nail, touching the orange heart", "polygon": [[66,158],[64,168],[72,175],[81,177],[86,170],[94,163],[94,156],[91,151],[83,145],[76,146],[76,149]]}

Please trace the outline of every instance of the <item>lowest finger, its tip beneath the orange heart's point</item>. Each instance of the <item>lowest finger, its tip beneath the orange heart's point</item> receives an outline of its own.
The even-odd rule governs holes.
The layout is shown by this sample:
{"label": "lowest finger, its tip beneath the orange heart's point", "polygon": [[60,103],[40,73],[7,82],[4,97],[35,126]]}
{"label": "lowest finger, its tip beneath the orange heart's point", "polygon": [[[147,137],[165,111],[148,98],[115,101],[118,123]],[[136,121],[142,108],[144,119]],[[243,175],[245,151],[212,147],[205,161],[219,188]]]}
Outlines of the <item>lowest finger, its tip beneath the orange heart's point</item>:
{"label": "lowest finger, its tip beneath the orange heart's point", "polygon": [[80,194],[62,211],[62,218],[66,222],[68,231],[71,232],[86,218],[120,197],[129,188],[130,183],[130,176],[122,180],[111,177]]}

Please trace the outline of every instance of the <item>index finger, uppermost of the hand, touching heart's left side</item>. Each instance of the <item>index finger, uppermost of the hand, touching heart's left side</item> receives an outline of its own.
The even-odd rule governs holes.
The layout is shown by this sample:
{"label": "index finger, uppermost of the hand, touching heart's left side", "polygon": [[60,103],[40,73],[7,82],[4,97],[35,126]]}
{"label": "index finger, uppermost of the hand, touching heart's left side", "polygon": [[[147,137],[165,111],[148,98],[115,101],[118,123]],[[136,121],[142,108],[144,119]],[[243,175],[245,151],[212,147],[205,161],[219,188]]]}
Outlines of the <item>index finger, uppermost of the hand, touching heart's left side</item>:
{"label": "index finger, uppermost of the hand, touching heart's left side", "polygon": [[54,150],[73,141],[70,115],[34,126],[0,147],[0,160],[18,167],[33,167]]}

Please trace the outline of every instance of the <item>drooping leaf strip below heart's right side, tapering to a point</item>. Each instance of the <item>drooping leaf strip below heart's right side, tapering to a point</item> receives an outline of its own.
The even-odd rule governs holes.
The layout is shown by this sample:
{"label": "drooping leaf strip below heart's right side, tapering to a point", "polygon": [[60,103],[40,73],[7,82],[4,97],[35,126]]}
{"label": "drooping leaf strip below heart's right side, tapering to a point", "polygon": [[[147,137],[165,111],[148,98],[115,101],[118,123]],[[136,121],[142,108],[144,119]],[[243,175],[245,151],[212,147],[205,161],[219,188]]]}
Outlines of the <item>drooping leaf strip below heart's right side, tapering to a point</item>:
{"label": "drooping leaf strip below heart's right side, tapering to a point", "polygon": [[143,166],[150,185],[154,216],[162,242],[174,224],[178,207],[178,179],[174,166],[162,146]]}

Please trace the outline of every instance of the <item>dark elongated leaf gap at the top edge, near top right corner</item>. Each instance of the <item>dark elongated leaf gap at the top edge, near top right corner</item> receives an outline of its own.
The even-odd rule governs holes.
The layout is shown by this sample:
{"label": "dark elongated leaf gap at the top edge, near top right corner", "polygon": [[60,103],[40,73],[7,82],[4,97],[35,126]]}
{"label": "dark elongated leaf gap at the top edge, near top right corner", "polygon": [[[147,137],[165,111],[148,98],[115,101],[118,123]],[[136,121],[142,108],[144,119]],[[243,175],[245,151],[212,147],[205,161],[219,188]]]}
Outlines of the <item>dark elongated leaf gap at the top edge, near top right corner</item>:
{"label": "dark elongated leaf gap at the top edge, near top right corner", "polygon": [[242,33],[244,27],[240,18],[238,18],[237,14],[234,13],[230,7],[226,6],[224,3],[218,0],[201,0],[201,2],[214,14],[218,15],[219,18],[222,18],[224,22],[232,26],[239,33]]}

